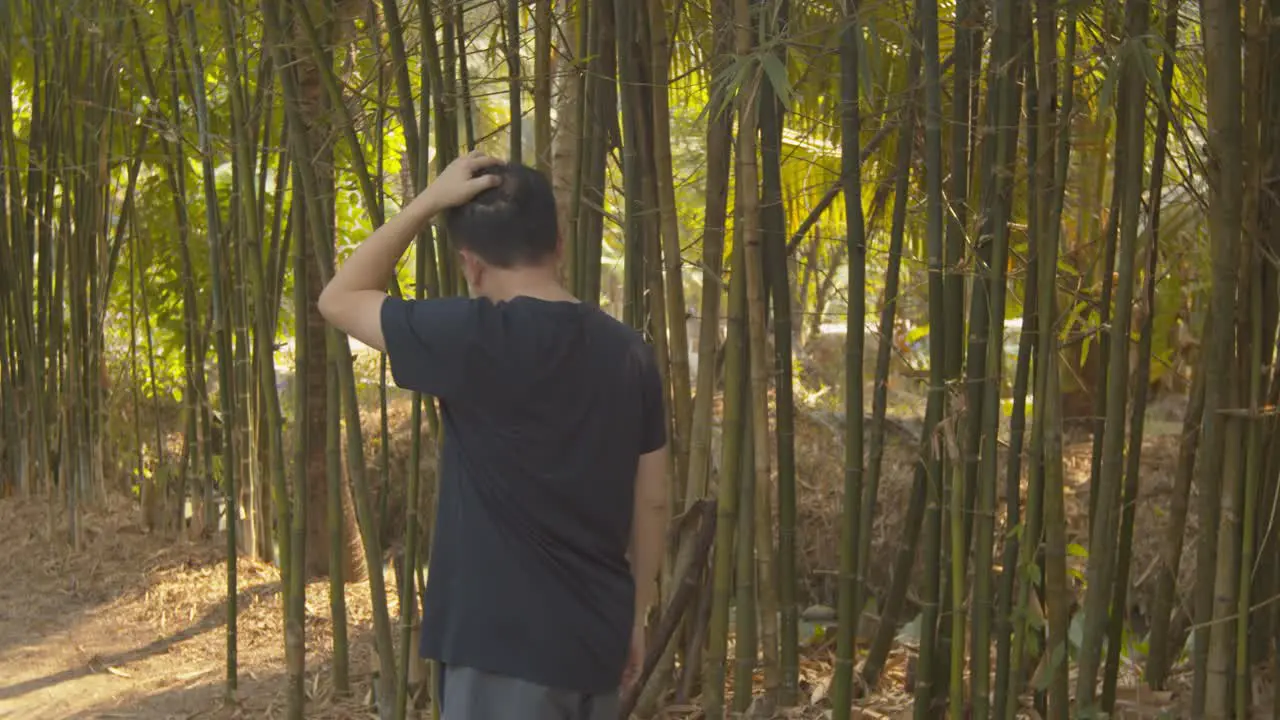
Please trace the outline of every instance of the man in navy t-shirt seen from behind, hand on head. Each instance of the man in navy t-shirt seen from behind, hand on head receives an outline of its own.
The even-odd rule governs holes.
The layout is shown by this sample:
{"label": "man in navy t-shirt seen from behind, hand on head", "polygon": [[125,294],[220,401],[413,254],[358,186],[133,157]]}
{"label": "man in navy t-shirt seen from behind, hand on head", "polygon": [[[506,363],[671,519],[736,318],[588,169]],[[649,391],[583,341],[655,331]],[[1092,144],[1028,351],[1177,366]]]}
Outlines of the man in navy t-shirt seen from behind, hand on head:
{"label": "man in navy t-shirt seen from behind, hand on head", "polygon": [[[444,214],[471,297],[388,297]],[[667,524],[652,350],[558,282],[549,182],[470,154],[374,232],[320,295],[440,400],[444,445],[422,653],[444,720],[614,720],[644,661]]]}

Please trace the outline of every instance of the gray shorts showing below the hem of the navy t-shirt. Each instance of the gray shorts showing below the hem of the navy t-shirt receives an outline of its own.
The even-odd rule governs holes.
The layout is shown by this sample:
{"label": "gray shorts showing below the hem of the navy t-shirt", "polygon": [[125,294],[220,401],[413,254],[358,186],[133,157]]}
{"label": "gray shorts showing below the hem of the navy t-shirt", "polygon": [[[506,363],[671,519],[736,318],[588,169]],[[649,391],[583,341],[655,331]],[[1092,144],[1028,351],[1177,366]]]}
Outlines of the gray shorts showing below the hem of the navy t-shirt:
{"label": "gray shorts showing below the hem of the navy t-shirt", "polygon": [[618,720],[618,693],[548,688],[460,665],[444,666],[440,720]]}

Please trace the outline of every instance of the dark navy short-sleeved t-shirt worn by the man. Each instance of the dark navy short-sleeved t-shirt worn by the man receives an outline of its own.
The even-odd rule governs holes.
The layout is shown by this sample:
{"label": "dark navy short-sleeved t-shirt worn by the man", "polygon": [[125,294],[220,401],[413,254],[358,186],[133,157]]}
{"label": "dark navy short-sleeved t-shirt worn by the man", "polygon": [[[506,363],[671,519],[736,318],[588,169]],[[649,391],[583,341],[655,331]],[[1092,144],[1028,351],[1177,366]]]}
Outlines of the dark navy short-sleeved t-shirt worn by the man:
{"label": "dark navy short-sleeved t-shirt worn by the man", "polygon": [[396,384],[443,409],[422,655],[582,693],[618,687],[640,455],[666,443],[654,354],[599,309],[388,299]]}

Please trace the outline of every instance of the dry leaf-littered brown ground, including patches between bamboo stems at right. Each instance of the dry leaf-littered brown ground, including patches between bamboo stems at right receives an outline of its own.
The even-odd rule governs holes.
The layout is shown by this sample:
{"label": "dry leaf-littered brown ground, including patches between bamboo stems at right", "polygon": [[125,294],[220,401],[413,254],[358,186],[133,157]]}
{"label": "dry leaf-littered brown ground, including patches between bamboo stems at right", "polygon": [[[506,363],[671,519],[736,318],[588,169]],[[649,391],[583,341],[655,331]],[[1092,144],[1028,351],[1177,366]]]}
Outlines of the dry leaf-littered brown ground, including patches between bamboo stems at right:
{"label": "dry leaf-littered brown ground, including patches between bamboo stems at right", "polygon": [[[841,480],[842,451],[823,442],[822,423],[800,428],[801,566],[808,589],[823,593],[813,578],[835,569],[831,523],[838,514],[833,493]],[[1142,593],[1162,523],[1161,506],[1176,454],[1172,423],[1155,423],[1144,443],[1143,505],[1133,579]],[[835,433],[838,438],[838,433]],[[810,445],[826,445],[814,450]],[[890,557],[901,537],[900,507],[909,493],[910,451],[890,447],[877,521],[876,557]],[[1071,488],[1070,524],[1084,521],[1080,491],[1088,475],[1088,443],[1068,443]],[[904,466],[905,465],[905,466]],[[0,546],[6,548],[0,584],[0,717],[278,717],[283,716],[284,657],[279,578],[270,566],[239,561],[239,692],[224,693],[225,552],[219,539],[188,542],[141,530],[136,505],[108,498],[83,519],[84,543],[72,551],[64,520],[47,500],[0,501]],[[1192,530],[1189,530],[1192,532]],[[826,542],[822,538],[828,538]],[[1184,574],[1187,570],[1184,570]],[[886,568],[873,575],[887,574]],[[388,579],[392,578],[388,573]],[[396,600],[392,594],[393,612]],[[307,593],[308,717],[372,717],[369,705],[371,648],[367,641],[367,585],[347,589],[352,626],[351,697],[337,698],[329,683],[328,585]],[[863,717],[896,717],[909,711],[906,659],[911,642],[895,651],[879,694],[864,702]],[[801,691],[806,717],[820,717],[832,667],[829,643],[808,647]],[[1125,671],[1132,676],[1132,671]],[[1178,698],[1123,691],[1129,717],[1160,717]],[[669,707],[669,717],[695,716]],[[1164,715],[1170,716],[1170,715]],[[1175,716],[1175,715],[1174,715]]]}

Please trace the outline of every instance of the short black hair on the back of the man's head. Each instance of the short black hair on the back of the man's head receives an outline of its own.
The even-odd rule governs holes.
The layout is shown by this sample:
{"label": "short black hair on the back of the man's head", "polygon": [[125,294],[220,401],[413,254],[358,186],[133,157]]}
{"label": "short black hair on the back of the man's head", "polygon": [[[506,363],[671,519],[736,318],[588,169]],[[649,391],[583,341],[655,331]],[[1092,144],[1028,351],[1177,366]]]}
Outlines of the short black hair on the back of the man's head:
{"label": "short black hair on the back of the man's head", "polygon": [[536,265],[553,255],[559,227],[547,176],[520,163],[489,165],[480,176],[502,182],[444,213],[453,246],[498,268]]}

